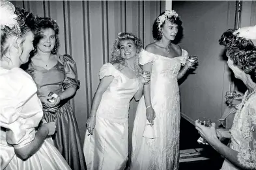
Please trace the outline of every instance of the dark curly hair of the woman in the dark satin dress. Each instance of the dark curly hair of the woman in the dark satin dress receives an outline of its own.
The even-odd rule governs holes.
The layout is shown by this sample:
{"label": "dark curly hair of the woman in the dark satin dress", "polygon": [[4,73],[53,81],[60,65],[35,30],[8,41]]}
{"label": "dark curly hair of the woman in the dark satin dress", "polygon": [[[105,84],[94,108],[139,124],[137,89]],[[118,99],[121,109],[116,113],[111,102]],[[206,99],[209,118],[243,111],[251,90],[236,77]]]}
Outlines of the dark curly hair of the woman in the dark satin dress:
{"label": "dark curly hair of the woman in the dark satin dress", "polygon": [[37,52],[36,45],[42,38],[41,37],[42,32],[44,32],[44,30],[46,30],[46,29],[52,29],[55,32],[56,42],[53,47],[53,50],[51,51],[51,54],[56,55],[58,52],[58,49],[59,49],[59,36],[58,36],[59,35],[59,26],[58,26],[57,22],[48,17],[45,17],[45,18],[38,17],[38,18],[36,18],[36,23],[37,23],[38,31],[35,33],[35,40],[33,41],[34,50],[31,51],[30,56],[34,56],[36,54],[36,52]]}

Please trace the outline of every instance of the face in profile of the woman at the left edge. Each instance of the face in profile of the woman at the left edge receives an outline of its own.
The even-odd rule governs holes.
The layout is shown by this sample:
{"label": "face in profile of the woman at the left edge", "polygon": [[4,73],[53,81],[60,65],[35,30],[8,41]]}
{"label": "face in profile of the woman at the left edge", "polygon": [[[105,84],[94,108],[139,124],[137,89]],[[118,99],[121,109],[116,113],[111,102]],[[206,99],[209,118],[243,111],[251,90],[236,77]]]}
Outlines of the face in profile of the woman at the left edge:
{"label": "face in profile of the woman at the left edge", "polygon": [[30,30],[27,32],[25,37],[23,38],[23,43],[20,44],[21,55],[20,55],[20,62],[21,64],[25,64],[29,61],[29,53],[33,50],[33,40],[34,34]]}

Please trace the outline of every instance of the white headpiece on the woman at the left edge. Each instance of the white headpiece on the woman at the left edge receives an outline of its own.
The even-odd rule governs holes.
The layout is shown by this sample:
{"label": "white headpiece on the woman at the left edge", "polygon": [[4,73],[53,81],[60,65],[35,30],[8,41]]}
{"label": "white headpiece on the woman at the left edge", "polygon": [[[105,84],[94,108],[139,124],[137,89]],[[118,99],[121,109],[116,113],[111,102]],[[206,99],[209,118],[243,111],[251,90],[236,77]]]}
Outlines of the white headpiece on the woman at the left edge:
{"label": "white headpiece on the woman at the left edge", "polygon": [[16,18],[18,16],[14,14],[15,7],[12,3],[8,1],[0,1],[0,28],[5,29],[5,26],[9,27],[11,30],[16,30],[20,33],[20,27]]}

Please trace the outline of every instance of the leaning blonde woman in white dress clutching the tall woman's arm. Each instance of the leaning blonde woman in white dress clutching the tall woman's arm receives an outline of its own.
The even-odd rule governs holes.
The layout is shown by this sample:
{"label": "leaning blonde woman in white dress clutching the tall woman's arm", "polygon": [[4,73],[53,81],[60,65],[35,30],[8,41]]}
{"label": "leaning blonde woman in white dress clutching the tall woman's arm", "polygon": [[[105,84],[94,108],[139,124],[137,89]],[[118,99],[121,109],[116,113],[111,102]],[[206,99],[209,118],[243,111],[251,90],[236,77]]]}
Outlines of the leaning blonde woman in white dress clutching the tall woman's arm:
{"label": "leaning blonde woman in white dress clutching the tall woman's arm", "polygon": [[128,111],[132,97],[141,98],[143,84],[138,54],[142,43],[134,34],[118,34],[111,62],[100,69],[83,151],[87,168],[124,169],[128,159]]}

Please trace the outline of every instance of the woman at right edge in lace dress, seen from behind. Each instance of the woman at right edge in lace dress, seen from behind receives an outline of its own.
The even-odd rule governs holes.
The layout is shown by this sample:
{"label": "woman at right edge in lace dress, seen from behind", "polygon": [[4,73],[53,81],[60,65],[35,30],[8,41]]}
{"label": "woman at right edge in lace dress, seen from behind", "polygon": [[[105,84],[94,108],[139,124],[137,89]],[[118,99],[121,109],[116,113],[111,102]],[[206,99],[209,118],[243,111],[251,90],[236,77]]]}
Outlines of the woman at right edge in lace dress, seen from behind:
{"label": "woman at right edge in lace dress, seen from behind", "polygon": [[227,64],[248,90],[235,114],[229,146],[217,138],[215,123],[205,127],[195,121],[201,136],[225,157],[222,170],[256,168],[256,27],[227,30],[219,40],[227,50]]}

